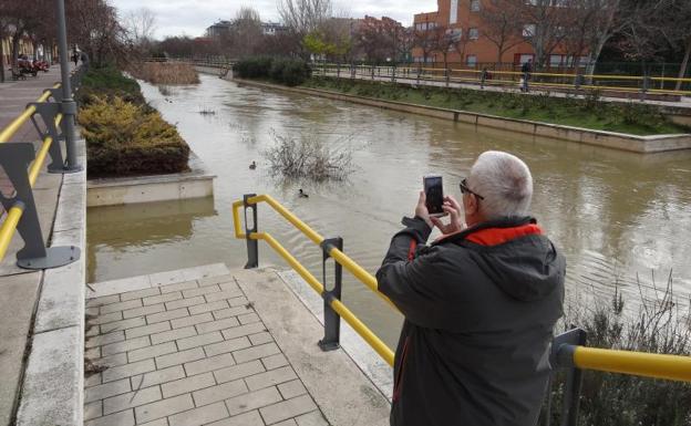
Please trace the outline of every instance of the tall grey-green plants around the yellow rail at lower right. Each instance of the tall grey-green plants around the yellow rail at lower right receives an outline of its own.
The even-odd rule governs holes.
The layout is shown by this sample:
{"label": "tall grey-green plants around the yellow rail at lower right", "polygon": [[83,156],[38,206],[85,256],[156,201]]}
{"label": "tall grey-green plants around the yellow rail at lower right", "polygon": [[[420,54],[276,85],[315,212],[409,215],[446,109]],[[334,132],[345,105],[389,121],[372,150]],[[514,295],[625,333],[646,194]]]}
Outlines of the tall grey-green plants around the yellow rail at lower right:
{"label": "tall grey-green plants around the yellow rail at lower right", "polygon": [[[575,309],[564,323],[588,334],[588,346],[691,355],[691,305],[667,285],[652,285],[649,299],[639,281],[640,304],[625,309],[616,290],[609,304]],[[627,303],[633,304],[635,301]],[[558,425],[565,374],[551,386],[551,424]],[[688,426],[691,425],[691,383],[646,378],[616,373],[585,371],[578,424],[581,426]]]}

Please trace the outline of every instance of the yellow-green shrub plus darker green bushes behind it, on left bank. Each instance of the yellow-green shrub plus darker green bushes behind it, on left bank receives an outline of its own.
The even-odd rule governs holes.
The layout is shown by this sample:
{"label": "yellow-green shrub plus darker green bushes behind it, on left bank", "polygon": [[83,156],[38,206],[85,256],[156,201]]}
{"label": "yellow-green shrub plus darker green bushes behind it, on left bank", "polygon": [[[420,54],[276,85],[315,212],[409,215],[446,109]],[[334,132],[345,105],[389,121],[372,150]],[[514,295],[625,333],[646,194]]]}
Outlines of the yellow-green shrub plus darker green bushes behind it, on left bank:
{"label": "yellow-green shrub plus darker green bushes behind it, on left bank", "polygon": [[90,178],[187,169],[189,147],[175,126],[146,104],[136,81],[114,67],[91,69],[76,98]]}

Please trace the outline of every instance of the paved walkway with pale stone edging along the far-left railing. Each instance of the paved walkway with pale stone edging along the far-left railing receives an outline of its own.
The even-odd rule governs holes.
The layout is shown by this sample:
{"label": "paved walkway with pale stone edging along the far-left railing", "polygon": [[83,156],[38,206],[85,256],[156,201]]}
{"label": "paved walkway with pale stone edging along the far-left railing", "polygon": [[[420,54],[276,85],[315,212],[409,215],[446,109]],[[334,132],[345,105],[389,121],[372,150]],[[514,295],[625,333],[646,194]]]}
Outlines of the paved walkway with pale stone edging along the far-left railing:
{"label": "paved walkway with pale stone edging along the far-left railing", "polygon": [[[52,66],[37,77],[0,84],[0,128],[59,80],[60,67]],[[39,135],[30,121],[9,143],[16,142],[39,146]],[[83,142],[78,142],[78,157],[80,162],[85,160]],[[48,174],[45,166],[38,176],[33,197],[41,233],[49,245],[73,245],[83,249],[85,178],[85,172]],[[6,196],[13,190],[1,168],[0,190]],[[0,207],[0,218],[4,216]],[[82,371],[82,351],[78,343],[83,339],[83,303],[79,294],[83,294],[84,258],[63,268],[25,270],[16,266],[17,251],[22,247],[22,238],[17,232],[0,262],[0,425],[49,424],[35,419],[50,422],[80,414],[71,408],[65,413],[65,406],[71,402],[75,407],[79,401],[76,382]],[[45,356],[51,359],[45,360]]]}

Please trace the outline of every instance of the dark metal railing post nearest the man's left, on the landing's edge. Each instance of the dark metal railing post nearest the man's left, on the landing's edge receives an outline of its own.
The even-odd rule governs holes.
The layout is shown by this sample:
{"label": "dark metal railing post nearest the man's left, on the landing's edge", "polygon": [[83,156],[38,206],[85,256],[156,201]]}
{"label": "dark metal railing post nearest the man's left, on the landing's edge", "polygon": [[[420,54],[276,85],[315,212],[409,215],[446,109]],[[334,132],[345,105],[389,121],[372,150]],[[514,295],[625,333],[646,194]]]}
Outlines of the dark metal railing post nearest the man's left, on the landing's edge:
{"label": "dark metal railing post nearest the man's left, on the landing's edge", "polygon": [[326,239],[321,242],[322,260],[321,271],[324,283],[322,298],[324,300],[324,337],[319,341],[319,347],[322,351],[333,351],[340,347],[341,335],[341,316],[331,308],[333,300],[341,300],[341,280],[343,268],[337,261],[333,261],[333,289],[327,290],[327,259],[331,257],[332,249],[343,251],[343,239],[341,237]]}

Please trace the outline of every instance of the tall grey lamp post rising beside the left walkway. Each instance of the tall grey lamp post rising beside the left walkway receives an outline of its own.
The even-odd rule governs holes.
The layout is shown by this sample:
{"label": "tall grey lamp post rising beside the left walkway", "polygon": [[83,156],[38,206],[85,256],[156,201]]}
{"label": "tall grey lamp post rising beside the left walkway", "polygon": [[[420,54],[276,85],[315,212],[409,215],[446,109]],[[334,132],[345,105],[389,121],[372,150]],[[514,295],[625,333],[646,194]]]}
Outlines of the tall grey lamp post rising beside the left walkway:
{"label": "tall grey lamp post rising beside the left walkway", "polygon": [[72,98],[70,85],[70,65],[68,53],[68,29],[65,24],[64,0],[55,0],[58,9],[58,46],[60,49],[60,74],[62,76],[62,129],[65,135],[68,162],[65,172],[80,172],[82,166],[76,163],[76,147],[74,146],[74,116],[76,103]]}

